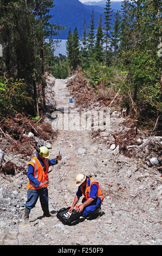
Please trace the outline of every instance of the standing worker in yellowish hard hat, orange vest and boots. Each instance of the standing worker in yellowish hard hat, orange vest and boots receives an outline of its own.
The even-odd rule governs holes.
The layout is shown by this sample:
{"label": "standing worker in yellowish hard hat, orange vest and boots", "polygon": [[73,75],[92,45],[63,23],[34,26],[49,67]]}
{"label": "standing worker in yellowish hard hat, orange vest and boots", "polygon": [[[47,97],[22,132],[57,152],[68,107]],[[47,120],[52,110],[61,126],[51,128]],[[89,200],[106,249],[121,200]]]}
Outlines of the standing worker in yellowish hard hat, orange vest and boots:
{"label": "standing worker in yellowish hard hat, orange vest and boots", "polygon": [[27,202],[25,203],[24,223],[29,223],[30,210],[36,205],[40,197],[40,203],[43,210],[43,217],[53,217],[49,212],[48,206],[48,169],[62,159],[61,155],[55,159],[49,158],[48,148],[41,146],[36,149],[36,156],[29,162],[28,166],[28,185],[27,185]]}

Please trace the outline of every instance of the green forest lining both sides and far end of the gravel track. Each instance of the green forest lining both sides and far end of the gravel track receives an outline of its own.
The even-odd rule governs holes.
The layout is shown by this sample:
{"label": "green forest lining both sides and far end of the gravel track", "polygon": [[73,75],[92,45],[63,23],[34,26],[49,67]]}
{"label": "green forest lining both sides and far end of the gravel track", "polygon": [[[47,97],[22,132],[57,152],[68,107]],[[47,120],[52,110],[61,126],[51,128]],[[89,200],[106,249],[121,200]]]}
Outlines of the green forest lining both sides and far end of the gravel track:
{"label": "green forest lining both sides and far end of the gravel track", "polygon": [[[67,57],[55,56],[59,40],[51,39],[64,29],[49,23],[53,1],[0,0],[0,116],[23,112],[40,115],[45,108],[44,72],[66,78],[82,69],[90,85],[121,95],[121,108],[138,125],[160,131],[161,119],[161,1],[122,1],[112,23],[111,1],[98,27],[94,11],[82,38],[77,27],[69,29]],[[55,9],[55,8],[54,8]],[[48,41],[45,39],[49,38]]]}

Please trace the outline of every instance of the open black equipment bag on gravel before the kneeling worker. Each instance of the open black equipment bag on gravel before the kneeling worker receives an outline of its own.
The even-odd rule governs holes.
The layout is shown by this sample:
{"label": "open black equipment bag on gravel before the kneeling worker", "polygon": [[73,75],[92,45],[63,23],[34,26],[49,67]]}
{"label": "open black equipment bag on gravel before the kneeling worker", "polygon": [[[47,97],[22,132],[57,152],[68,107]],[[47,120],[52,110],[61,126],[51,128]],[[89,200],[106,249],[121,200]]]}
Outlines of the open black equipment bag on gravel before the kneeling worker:
{"label": "open black equipment bag on gravel before the kneeling worker", "polygon": [[73,210],[72,214],[69,215],[68,211],[69,211],[70,207],[68,208],[62,208],[57,212],[57,218],[59,218],[59,220],[64,224],[70,224],[73,221],[75,221],[77,218],[79,218],[81,216],[81,212]]}

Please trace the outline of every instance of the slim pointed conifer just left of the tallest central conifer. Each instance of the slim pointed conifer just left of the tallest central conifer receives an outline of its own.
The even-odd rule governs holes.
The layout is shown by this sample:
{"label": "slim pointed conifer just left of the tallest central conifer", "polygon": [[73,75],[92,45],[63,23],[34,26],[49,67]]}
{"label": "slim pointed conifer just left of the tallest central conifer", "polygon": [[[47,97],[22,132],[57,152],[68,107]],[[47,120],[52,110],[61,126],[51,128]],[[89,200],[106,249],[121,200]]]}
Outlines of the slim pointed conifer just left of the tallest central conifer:
{"label": "slim pointed conifer just left of the tallest central conifer", "polygon": [[99,25],[96,33],[96,42],[95,42],[95,59],[98,62],[103,61],[103,31],[102,31],[102,16],[100,16]]}

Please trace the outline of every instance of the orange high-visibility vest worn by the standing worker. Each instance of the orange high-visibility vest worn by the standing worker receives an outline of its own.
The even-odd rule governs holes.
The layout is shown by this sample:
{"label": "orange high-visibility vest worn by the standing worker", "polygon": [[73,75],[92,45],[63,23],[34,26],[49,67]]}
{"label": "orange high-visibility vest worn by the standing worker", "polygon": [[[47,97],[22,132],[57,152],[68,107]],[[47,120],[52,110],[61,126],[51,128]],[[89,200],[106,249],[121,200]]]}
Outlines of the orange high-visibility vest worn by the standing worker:
{"label": "orange high-visibility vest worn by the standing worker", "polygon": [[[34,167],[34,178],[42,182],[44,184],[44,187],[47,187],[49,182],[48,180],[49,164],[48,164],[48,159],[44,159],[44,160],[45,160],[43,161],[45,164],[44,167],[42,167],[42,164],[40,163],[40,161],[37,159],[36,156],[29,162],[29,164],[31,164]],[[27,184],[27,190],[29,188],[33,190],[40,190],[40,187],[34,186],[33,182],[30,179]]]}

